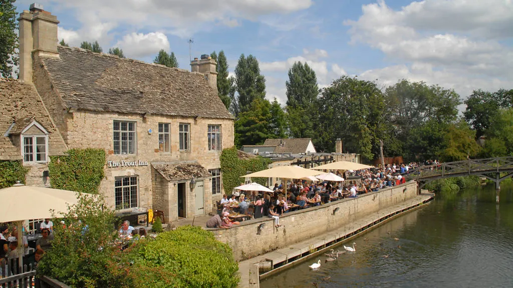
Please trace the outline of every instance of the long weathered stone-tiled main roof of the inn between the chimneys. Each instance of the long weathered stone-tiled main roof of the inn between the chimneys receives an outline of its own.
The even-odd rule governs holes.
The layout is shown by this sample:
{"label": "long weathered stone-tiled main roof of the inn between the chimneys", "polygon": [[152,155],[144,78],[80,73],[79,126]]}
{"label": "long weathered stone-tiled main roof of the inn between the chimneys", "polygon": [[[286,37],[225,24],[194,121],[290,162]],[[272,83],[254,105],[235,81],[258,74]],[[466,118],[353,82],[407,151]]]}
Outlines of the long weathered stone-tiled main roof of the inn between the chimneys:
{"label": "long weathered stone-tiled main roof of the inn between the chimneys", "polygon": [[57,47],[41,61],[67,108],[98,112],[229,118],[201,73],[104,53]]}

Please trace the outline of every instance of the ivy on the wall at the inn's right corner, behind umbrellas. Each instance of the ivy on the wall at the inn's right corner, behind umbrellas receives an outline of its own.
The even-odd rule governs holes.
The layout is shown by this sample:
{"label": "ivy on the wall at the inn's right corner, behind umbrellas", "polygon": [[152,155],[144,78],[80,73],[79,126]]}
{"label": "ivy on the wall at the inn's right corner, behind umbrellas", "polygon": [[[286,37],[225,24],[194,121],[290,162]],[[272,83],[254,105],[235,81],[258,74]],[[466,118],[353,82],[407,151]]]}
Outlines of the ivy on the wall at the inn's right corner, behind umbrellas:
{"label": "ivy on the wall at the inn's right corner, behind umbrellas", "polygon": [[[271,163],[270,159],[257,156],[250,159],[240,159],[235,147],[224,149],[221,153],[221,171],[223,172],[223,186],[225,193],[231,194],[233,188],[244,182],[241,176],[248,172],[265,170]],[[252,178],[253,181],[262,185],[266,184],[267,178]]]}

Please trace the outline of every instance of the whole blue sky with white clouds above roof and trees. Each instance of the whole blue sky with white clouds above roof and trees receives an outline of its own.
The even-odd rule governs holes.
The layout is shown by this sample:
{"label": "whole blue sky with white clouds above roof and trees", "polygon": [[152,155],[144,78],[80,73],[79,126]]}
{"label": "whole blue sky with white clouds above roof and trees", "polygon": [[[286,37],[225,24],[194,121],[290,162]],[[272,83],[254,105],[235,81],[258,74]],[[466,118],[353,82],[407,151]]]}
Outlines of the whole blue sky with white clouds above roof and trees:
{"label": "whole blue sky with white clouds above roof and trees", "polygon": [[[33,0],[18,0],[18,12]],[[70,46],[97,40],[104,52],[151,62],[174,52],[224,50],[232,73],[241,54],[257,57],[266,97],[286,102],[295,61],[326,87],[342,75],[400,79],[454,89],[513,89],[513,0],[38,0],[56,15]]]}

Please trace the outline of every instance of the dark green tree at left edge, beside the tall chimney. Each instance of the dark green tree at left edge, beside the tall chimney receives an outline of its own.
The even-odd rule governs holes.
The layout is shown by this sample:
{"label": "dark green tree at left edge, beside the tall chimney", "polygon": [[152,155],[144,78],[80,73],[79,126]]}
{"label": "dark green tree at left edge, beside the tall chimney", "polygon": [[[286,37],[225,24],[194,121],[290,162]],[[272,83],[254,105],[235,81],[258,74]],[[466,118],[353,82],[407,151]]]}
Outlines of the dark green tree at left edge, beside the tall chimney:
{"label": "dark green tree at left edge, beside the tall chimney", "polygon": [[15,0],[0,0],[0,77],[12,78],[18,65],[18,22]]}

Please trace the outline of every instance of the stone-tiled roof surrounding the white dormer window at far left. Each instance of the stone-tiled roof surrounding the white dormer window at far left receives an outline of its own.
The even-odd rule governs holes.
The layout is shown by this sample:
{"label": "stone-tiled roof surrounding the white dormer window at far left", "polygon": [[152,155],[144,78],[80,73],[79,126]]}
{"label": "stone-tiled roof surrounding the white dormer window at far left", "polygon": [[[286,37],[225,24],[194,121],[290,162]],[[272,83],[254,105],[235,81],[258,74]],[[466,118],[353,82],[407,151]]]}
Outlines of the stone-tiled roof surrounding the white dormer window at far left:
{"label": "stone-tiled roof surrounding the white dormer window at far left", "polygon": [[[4,136],[11,125],[10,135],[19,134],[33,119],[49,133],[49,155],[64,155],[67,147],[55,129],[34,86],[15,79],[0,78],[0,160],[21,160],[21,148],[11,137]],[[19,142],[19,141],[18,141]]]}

